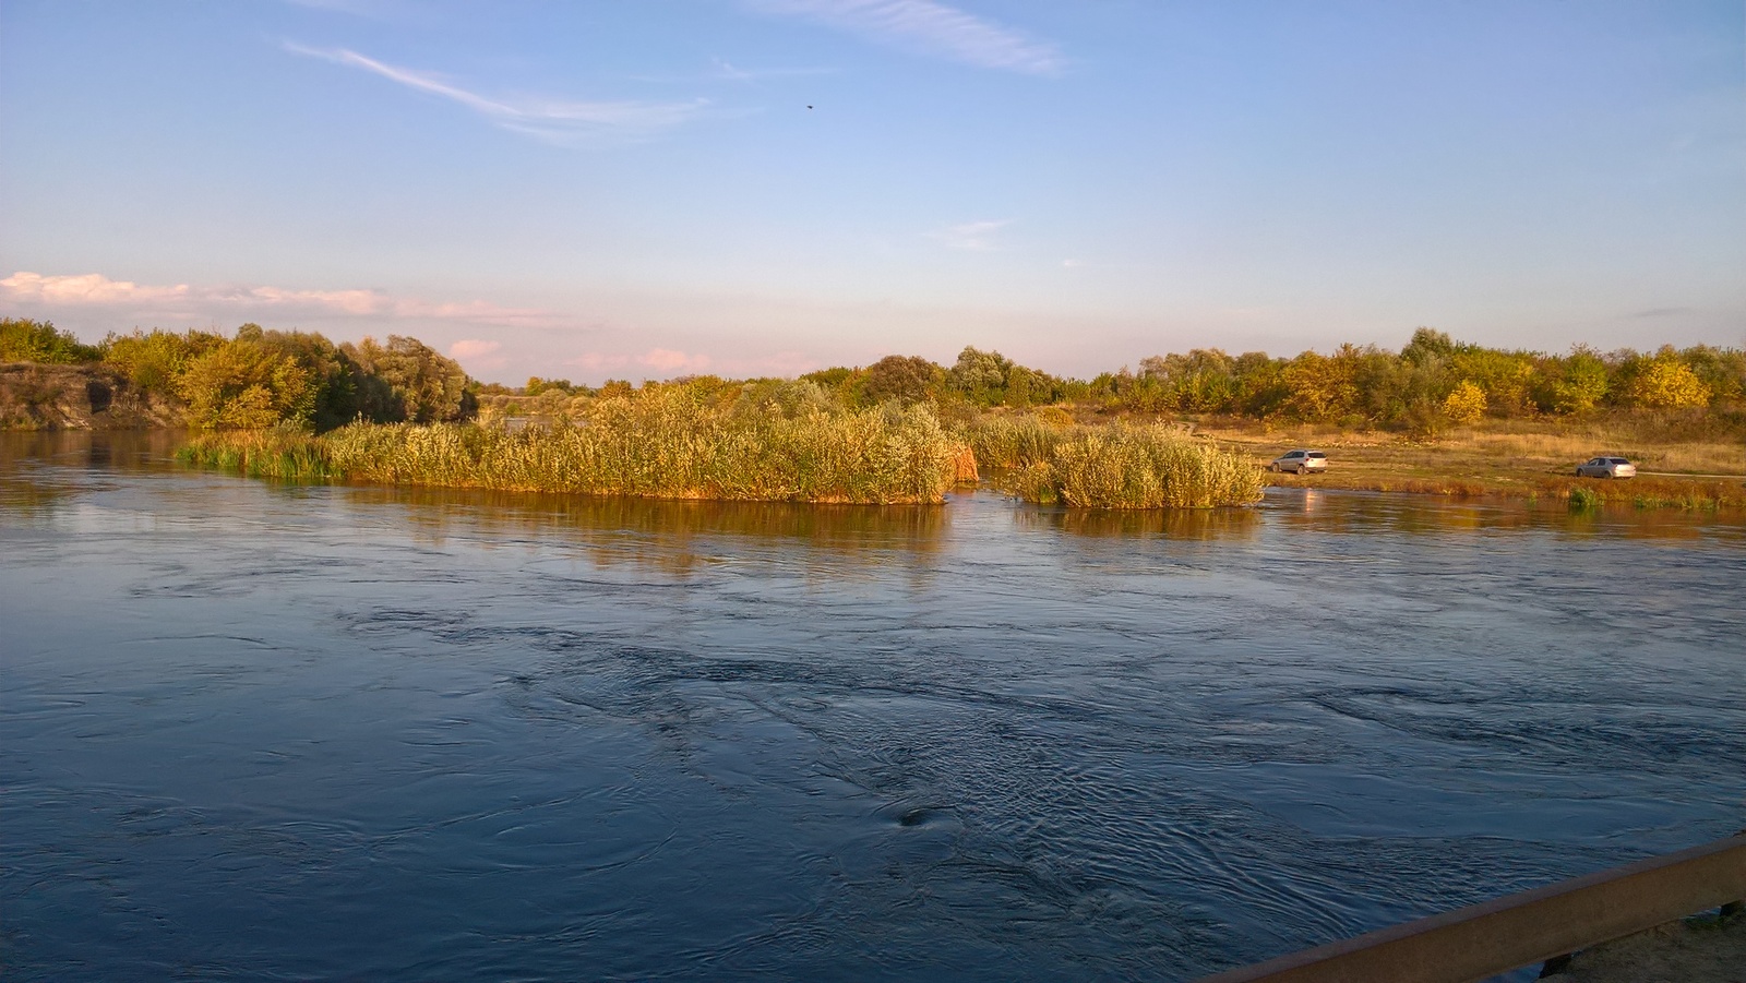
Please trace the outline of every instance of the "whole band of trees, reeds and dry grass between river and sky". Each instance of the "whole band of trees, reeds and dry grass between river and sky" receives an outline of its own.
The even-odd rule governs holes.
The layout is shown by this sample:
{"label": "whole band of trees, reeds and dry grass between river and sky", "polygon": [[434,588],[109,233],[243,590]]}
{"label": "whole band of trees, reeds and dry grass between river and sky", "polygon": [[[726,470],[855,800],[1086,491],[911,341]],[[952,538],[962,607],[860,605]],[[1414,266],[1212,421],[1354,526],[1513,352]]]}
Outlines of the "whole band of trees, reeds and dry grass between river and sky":
{"label": "whole band of trees, reeds and dry grass between river and sky", "polygon": [[[290,480],[723,501],[938,503],[988,480],[1069,508],[1248,505],[1266,485],[1746,508],[1746,351],[1564,356],[1419,328],[1399,353],[1217,349],[1065,379],[966,347],[800,379],[468,379],[416,339],[243,325],[79,342],[0,320],[0,430],[203,431],[187,463]],[[1264,475],[1287,447],[1327,475]],[[1575,478],[1624,454],[1629,482]]]}

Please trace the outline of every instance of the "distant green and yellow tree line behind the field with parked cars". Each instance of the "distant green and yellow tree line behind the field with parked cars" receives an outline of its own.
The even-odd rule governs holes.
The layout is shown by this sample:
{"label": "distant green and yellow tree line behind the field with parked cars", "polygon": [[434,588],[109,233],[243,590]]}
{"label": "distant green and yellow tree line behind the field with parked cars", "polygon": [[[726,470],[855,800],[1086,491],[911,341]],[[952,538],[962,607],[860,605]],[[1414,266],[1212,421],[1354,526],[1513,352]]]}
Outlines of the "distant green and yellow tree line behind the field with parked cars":
{"label": "distant green and yellow tree line behind the field with parked cars", "polygon": [[[1142,358],[1138,372],[1121,368],[1093,379],[1051,375],[1018,365],[999,351],[966,347],[952,365],[892,354],[868,367],[835,367],[801,375],[849,407],[896,400],[927,402],[943,416],[1046,405],[1103,412],[1227,416],[1435,431],[1484,417],[1575,417],[1605,410],[1718,410],[1743,416],[1746,351],[1664,346],[1645,353],[1599,353],[1577,346],[1568,354],[1505,351],[1456,342],[1419,328],[1400,351],[1343,344],[1330,354],[1304,351],[1276,358],[1261,351],[1226,354],[1193,349]],[[712,375],[693,384],[740,389]],[[567,379],[529,379],[522,396],[590,396],[602,389]]]}

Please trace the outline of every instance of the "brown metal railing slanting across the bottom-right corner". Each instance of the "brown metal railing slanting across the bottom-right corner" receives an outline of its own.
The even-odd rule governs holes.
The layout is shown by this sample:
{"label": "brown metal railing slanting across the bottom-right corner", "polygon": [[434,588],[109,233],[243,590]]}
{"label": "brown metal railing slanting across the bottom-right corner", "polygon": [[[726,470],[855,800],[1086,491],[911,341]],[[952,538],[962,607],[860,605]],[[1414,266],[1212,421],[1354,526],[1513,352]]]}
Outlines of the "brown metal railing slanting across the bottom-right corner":
{"label": "brown metal railing slanting across the bottom-right corner", "polygon": [[1746,831],[1200,983],[1472,983],[1746,899]]}

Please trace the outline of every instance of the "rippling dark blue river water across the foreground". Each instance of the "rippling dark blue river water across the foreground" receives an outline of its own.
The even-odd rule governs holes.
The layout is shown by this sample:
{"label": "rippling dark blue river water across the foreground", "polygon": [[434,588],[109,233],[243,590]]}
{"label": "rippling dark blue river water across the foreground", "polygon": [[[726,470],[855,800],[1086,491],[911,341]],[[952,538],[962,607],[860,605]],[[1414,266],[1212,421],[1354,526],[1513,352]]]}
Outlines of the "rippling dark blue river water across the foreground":
{"label": "rippling dark blue river water across the foreground", "polygon": [[1746,526],[0,435],[9,980],[1191,980],[1746,826]]}

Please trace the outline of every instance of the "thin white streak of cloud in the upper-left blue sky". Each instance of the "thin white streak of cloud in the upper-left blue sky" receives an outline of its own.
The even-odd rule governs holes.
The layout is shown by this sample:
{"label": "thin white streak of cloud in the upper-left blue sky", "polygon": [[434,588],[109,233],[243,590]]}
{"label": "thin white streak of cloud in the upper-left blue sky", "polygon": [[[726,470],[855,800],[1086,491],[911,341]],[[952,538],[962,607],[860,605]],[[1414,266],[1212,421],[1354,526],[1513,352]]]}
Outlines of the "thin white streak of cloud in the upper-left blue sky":
{"label": "thin white streak of cloud in the upper-left blue sky", "polygon": [[459,103],[491,122],[550,143],[574,143],[597,136],[643,138],[697,119],[709,100],[688,103],[571,101],[550,98],[489,98],[463,89],[440,75],[400,68],[344,47],[316,49],[285,42],[285,51],[333,65],[361,68],[409,89]]}

